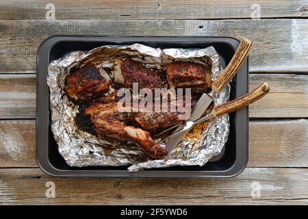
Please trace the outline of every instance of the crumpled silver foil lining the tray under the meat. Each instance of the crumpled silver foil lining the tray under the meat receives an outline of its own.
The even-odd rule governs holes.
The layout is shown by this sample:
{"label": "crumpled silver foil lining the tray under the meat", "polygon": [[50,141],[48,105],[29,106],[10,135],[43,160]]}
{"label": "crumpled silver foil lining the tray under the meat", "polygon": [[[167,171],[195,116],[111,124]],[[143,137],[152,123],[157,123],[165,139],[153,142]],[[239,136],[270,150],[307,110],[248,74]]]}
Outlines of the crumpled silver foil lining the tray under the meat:
{"label": "crumpled silver foil lining the tray under the meat", "polygon": [[[51,130],[58,149],[70,166],[129,166],[129,171],[168,166],[205,165],[211,157],[218,155],[229,135],[229,116],[224,115],[196,125],[190,133],[169,153],[166,159],[149,159],[138,146],[129,142],[115,144],[81,131],[75,124],[78,106],[68,99],[64,82],[70,69],[92,63],[111,67],[114,57],[129,55],[146,66],[163,68],[163,64],[190,61],[205,64],[211,68],[211,79],[221,73],[219,55],[214,47],[205,49],[159,49],[142,44],[112,45],[74,51],[49,64],[47,83],[50,90]],[[214,96],[214,105],[229,100],[230,86]],[[161,144],[164,146],[164,144]]]}

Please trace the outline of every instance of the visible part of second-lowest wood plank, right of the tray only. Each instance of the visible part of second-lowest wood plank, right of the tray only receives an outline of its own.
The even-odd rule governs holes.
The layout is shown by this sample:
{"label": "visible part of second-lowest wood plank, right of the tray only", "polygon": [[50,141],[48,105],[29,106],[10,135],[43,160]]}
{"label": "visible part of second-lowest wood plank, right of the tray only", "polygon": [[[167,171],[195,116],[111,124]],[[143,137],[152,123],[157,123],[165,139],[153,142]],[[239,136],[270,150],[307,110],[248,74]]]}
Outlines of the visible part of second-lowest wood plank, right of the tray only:
{"label": "visible part of second-lowest wood plank, right of the tray only", "polygon": [[308,120],[251,121],[248,166],[308,167]]}

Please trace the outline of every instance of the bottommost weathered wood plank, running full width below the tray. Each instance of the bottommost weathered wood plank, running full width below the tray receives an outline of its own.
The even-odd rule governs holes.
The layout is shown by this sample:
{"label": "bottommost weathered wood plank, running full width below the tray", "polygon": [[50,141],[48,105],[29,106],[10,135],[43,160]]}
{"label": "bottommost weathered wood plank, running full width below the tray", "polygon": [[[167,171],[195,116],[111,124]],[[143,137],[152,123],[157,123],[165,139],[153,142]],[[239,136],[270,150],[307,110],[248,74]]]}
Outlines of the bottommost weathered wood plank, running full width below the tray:
{"label": "bottommost weathered wood plank, running full width below the tray", "polygon": [[[55,178],[39,169],[1,169],[0,204],[307,205],[307,177],[307,168],[246,168],[238,177],[221,180]],[[51,183],[55,185],[55,198],[45,195]]]}

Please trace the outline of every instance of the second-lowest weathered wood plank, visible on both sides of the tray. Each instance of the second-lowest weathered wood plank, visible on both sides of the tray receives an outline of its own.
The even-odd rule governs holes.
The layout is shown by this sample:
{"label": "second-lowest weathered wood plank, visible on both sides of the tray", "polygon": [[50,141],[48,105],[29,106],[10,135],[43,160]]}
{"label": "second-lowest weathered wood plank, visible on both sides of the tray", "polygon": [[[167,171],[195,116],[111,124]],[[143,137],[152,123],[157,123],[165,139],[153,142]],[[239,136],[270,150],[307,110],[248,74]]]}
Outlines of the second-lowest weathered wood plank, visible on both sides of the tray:
{"label": "second-lowest weathered wood plank, visible on both sides of the tray", "polygon": [[[250,122],[250,167],[308,167],[308,120]],[[0,168],[36,167],[35,120],[0,120]]]}

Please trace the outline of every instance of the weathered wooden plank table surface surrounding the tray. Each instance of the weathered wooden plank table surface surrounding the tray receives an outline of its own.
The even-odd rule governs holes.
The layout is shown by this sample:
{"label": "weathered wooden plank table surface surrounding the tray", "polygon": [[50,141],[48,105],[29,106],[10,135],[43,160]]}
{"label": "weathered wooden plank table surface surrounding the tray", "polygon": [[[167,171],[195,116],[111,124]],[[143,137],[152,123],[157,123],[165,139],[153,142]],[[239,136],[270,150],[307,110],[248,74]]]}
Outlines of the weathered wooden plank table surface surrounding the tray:
{"label": "weathered wooden plank table surface surrounding the tray", "polygon": [[[48,3],[55,5],[55,21],[46,20]],[[245,0],[1,0],[0,203],[307,205],[308,1],[253,3],[258,5]],[[251,19],[258,7],[261,19]],[[268,81],[272,91],[250,107],[247,168],[232,179],[44,174],[34,145],[36,51],[53,34],[251,39],[250,88]],[[55,198],[45,196],[48,182],[55,183]]]}

